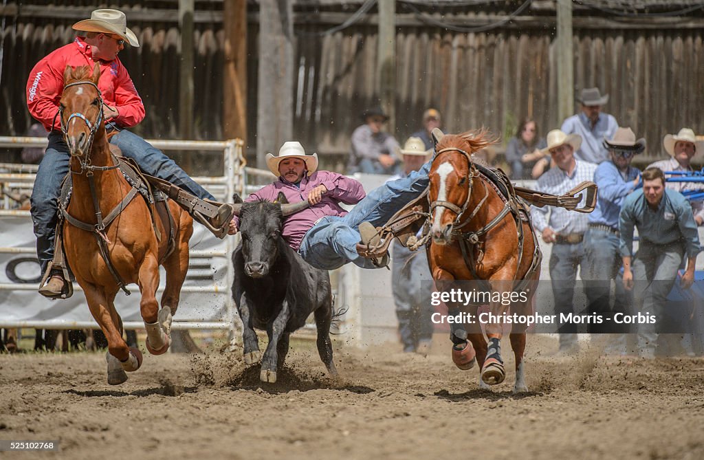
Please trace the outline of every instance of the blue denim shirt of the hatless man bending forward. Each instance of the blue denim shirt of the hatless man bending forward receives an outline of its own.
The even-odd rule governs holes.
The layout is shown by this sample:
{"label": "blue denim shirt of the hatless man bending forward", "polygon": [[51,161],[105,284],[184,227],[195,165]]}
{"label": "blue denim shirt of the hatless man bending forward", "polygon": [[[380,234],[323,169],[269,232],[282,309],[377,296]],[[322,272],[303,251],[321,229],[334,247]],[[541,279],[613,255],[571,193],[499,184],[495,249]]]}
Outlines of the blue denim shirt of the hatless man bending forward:
{"label": "blue denim shirt of the hatless man bending forward", "polygon": [[640,244],[670,244],[681,241],[687,256],[701,251],[699,234],[689,201],[679,192],[665,189],[658,209],[648,206],[643,189],[631,193],[624,201],[619,216],[621,255],[633,255],[633,230],[638,228]]}

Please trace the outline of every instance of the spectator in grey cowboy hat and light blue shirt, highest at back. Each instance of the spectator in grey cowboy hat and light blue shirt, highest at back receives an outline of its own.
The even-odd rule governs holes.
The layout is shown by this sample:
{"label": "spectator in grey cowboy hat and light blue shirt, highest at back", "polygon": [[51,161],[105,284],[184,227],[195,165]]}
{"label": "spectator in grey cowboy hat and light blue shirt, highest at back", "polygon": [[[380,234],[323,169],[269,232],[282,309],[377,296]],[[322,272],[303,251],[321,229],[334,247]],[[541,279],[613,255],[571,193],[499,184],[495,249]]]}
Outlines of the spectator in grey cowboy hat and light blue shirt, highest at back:
{"label": "spectator in grey cowboy hat and light blue shirt, highest at back", "polygon": [[580,160],[594,164],[607,161],[609,152],[602,141],[612,139],[618,128],[616,118],[601,112],[601,107],[609,101],[609,95],[602,96],[598,88],[585,88],[577,101],[582,104],[582,111],[562,123],[562,132],[582,137],[582,147],[575,152]]}

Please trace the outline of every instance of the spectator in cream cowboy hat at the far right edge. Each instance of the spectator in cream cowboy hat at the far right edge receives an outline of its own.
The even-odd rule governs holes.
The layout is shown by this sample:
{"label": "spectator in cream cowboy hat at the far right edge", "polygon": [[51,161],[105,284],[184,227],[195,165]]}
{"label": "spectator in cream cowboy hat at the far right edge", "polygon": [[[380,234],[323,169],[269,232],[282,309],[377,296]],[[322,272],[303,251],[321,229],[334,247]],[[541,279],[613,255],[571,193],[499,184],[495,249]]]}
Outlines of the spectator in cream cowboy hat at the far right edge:
{"label": "spectator in cream cowboy hat at the far right edge", "polygon": [[[658,168],[665,173],[668,171],[693,171],[691,161],[697,153],[696,140],[694,131],[690,128],[682,128],[676,135],[665,135],[662,139],[662,145],[665,147],[665,151],[670,154],[671,158],[668,160],[655,161],[655,163],[648,166],[648,168]],[[666,182],[665,187],[677,190],[677,192],[704,189],[702,184],[698,182]],[[694,220],[697,225],[702,225],[702,223],[704,223],[704,201],[690,200],[689,203],[692,206]]]}

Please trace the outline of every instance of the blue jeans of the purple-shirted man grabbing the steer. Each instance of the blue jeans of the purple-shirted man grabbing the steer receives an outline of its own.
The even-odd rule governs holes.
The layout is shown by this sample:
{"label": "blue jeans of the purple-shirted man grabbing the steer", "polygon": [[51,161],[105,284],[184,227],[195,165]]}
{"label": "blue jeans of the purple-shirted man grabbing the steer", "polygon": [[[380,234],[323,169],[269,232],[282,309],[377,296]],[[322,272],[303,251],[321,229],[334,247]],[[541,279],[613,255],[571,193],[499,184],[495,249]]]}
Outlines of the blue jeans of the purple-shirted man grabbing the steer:
{"label": "blue jeans of the purple-shirted man grabbing the steer", "polygon": [[405,178],[391,180],[372,190],[344,217],[328,216],[313,225],[301,241],[298,254],[315,268],[334,270],[352,262],[361,268],[377,268],[357,254],[359,224],[384,225],[409,201],[417,198],[429,183],[428,161]]}

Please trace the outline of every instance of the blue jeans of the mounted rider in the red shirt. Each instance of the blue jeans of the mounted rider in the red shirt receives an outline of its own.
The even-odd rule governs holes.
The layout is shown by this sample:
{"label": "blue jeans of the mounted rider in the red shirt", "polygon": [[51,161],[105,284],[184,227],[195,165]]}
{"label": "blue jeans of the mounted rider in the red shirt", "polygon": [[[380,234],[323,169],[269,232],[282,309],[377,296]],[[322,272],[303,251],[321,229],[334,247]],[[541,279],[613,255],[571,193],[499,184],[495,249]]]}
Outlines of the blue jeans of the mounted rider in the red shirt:
{"label": "blue jeans of the mounted rider in the red shirt", "polygon": [[[130,131],[122,130],[110,139],[122,150],[122,155],[133,158],[144,173],[168,180],[201,199],[214,199],[182,170],[171,158]],[[54,259],[54,238],[58,221],[58,196],[61,193],[61,180],[68,174],[70,155],[63,135],[49,133],[49,145],[42,163],[39,163],[37,178],[34,180],[31,203],[34,235],[37,236],[37,258],[42,266]]]}

